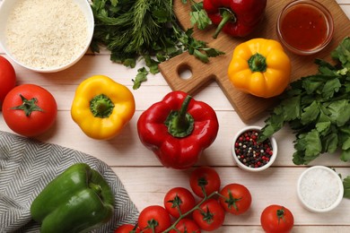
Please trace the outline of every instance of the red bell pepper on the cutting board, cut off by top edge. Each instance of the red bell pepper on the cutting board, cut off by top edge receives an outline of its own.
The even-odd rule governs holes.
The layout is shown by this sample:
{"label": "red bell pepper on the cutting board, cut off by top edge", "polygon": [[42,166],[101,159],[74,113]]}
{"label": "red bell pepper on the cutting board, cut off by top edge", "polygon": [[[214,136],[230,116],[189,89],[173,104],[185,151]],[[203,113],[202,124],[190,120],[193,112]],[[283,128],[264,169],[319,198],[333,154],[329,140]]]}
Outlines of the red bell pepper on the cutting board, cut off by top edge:
{"label": "red bell pepper on the cutting board, cut off by top edge", "polygon": [[249,35],[263,19],[267,0],[204,0],[208,17],[218,25],[214,39],[221,30],[232,37]]}

